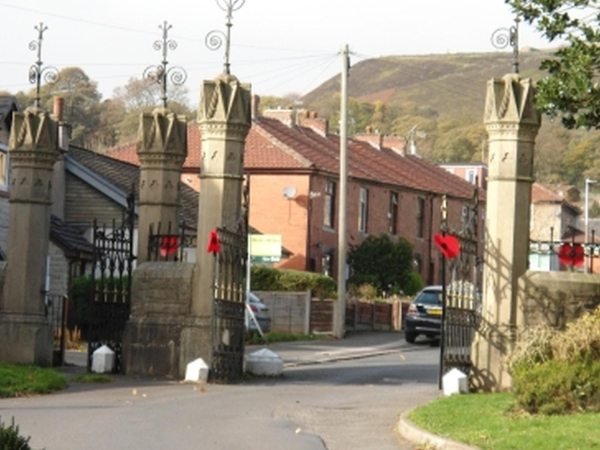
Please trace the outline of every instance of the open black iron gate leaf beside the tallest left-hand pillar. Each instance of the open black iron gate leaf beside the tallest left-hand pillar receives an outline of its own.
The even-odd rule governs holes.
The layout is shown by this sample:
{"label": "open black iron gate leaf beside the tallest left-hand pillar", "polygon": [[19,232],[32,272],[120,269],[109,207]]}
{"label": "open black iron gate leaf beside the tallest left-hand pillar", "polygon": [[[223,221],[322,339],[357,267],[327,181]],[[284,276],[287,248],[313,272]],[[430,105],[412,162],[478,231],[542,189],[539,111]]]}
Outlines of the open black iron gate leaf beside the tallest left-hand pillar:
{"label": "open black iron gate leaf beside the tallest left-hand pillar", "polygon": [[244,369],[246,233],[217,230],[220,252],[214,254],[212,381],[239,380]]}

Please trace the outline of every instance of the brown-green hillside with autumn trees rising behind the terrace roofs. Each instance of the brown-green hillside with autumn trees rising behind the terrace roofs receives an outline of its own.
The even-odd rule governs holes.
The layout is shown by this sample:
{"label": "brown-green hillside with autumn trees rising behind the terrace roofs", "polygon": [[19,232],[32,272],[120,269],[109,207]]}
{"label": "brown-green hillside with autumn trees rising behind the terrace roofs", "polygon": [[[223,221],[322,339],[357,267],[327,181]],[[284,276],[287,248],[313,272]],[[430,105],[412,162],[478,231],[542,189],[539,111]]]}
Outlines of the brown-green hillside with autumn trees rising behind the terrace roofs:
{"label": "brown-green hillside with autumn trees rising behind the terrace roofs", "polygon": [[[540,63],[551,56],[550,51],[522,50],[521,76],[540,79],[544,76]],[[349,85],[350,133],[364,132],[370,126],[383,134],[406,137],[417,126],[421,131],[419,151],[426,159],[480,161],[485,159],[487,145],[482,123],[487,82],[511,71],[510,52],[354,61]],[[336,124],[339,90],[338,75],[305,95],[304,106]],[[536,147],[537,179],[581,187],[586,176],[600,177],[600,163],[595,164],[597,143],[597,131],[565,130],[559,119],[544,117]]]}

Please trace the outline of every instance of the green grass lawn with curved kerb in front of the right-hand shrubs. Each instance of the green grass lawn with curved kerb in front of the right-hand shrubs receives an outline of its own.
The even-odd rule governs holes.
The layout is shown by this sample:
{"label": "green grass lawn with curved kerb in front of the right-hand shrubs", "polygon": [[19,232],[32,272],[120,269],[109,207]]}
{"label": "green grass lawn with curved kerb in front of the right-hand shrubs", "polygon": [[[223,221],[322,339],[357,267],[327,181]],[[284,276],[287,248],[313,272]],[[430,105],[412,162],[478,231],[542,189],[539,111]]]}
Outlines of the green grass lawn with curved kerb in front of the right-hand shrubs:
{"label": "green grass lawn with curved kerb in front of the right-hand shrubs", "polygon": [[409,418],[439,436],[481,449],[600,449],[600,414],[532,416],[516,410],[507,393],[441,398]]}

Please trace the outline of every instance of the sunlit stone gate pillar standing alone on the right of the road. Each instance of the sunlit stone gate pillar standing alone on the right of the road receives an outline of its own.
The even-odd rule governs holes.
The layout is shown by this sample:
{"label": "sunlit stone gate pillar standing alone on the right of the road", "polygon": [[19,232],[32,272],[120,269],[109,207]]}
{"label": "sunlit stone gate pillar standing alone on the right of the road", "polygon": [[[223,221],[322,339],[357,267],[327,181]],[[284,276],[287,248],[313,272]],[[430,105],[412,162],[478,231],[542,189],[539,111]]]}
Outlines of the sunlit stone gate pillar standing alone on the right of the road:
{"label": "sunlit stone gate pillar standing alone on the right of the road", "polygon": [[518,280],[527,270],[533,149],[541,124],[531,79],[488,82],[489,136],[483,321],[472,347],[474,387],[510,388],[505,358],[522,322]]}

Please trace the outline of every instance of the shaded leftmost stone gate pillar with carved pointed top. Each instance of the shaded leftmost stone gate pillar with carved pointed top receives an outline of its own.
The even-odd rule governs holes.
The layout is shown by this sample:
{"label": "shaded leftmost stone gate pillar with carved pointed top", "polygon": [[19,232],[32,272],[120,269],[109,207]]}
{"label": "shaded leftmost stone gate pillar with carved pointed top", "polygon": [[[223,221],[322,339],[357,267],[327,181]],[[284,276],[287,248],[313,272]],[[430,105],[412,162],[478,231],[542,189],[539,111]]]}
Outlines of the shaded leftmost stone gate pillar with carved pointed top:
{"label": "shaded leftmost stone gate pillar with carved pointed top", "polygon": [[53,335],[44,287],[58,122],[37,107],[14,113],[9,151],[10,244],[0,302],[0,360],[49,366]]}

